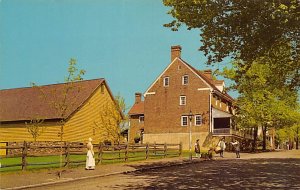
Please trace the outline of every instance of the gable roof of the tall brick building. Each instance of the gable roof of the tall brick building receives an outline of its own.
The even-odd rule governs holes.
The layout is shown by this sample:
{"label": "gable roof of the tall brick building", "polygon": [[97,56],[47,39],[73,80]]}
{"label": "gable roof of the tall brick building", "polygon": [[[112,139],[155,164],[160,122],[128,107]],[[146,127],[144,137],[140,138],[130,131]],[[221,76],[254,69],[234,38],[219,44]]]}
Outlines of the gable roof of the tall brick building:
{"label": "gable roof of the tall brick building", "polygon": [[228,99],[229,101],[233,101],[234,99],[227,94],[226,92],[221,92],[216,85],[223,83],[224,81],[222,80],[213,80],[210,79],[209,77],[207,77],[204,72],[199,71],[197,69],[195,69],[194,67],[192,67],[190,64],[188,64],[187,62],[185,62],[184,60],[182,60],[179,57],[176,57],[166,68],[165,70],[159,75],[159,77],[151,84],[151,86],[146,90],[145,95],[147,95],[148,91],[152,88],[152,86],[159,80],[159,78],[168,70],[168,68],[175,63],[176,60],[179,60],[182,64],[186,65],[186,67],[188,67],[196,76],[199,77],[199,79],[201,79],[210,89],[212,92]]}

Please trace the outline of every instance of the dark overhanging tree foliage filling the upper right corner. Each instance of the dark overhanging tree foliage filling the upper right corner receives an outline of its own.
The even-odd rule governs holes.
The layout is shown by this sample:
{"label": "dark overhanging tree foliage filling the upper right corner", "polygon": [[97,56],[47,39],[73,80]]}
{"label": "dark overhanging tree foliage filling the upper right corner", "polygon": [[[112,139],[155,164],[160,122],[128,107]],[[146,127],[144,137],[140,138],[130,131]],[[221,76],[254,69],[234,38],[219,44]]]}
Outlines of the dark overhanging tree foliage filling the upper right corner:
{"label": "dark overhanging tree foliage filling the upper right corner", "polygon": [[[165,24],[173,31],[185,24],[199,29],[200,50],[208,64],[226,57],[247,65],[242,77],[259,57],[273,57],[275,50],[288,48],[289,61],[274,62],[273,74],[284,73],[291,87],[300,85],[300,3],[297,0],[163,0],[175,20]],[[287,75],[287,76],[286,76]]]}

